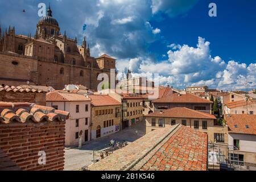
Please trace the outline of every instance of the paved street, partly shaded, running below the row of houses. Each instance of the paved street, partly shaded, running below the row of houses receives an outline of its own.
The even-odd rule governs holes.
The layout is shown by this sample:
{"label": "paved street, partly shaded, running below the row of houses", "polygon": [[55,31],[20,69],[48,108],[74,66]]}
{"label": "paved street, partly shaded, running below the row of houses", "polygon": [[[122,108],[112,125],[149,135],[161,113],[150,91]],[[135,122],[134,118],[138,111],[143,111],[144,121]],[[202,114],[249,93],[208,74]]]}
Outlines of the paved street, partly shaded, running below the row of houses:
{"label": "paved street, partly shaded, running below the row of houses", "polygon": [[115,142],[126,141],[128,143],[134,142],[138,138],[141,138],[146,134],[145,122],[139,122],[127,129],[124,129],[118,133],[109,135],[108,137],[100,138],[91,141],[88,144],[82,146],[81,149],[70,148],[65,149],[65,167],[64,170],[72,171],[79,170],[84,166],[89,166],[93,163],[93,151],[94,160],[100,159],[100,152],[104,148],[109,146],[110,140],[115,140]]}

